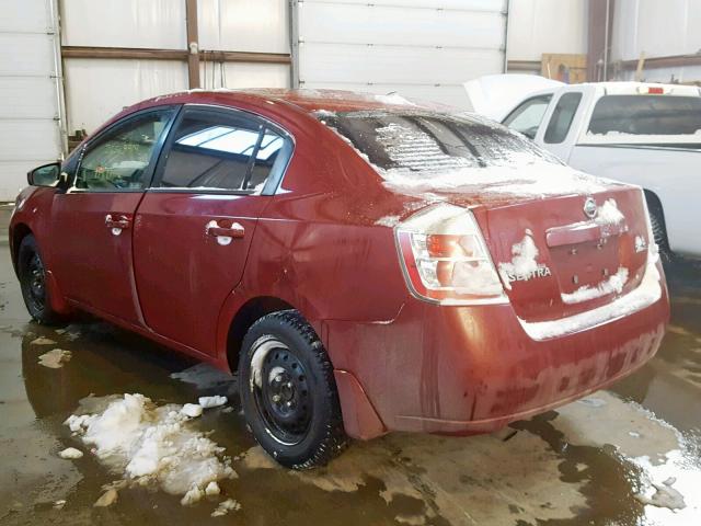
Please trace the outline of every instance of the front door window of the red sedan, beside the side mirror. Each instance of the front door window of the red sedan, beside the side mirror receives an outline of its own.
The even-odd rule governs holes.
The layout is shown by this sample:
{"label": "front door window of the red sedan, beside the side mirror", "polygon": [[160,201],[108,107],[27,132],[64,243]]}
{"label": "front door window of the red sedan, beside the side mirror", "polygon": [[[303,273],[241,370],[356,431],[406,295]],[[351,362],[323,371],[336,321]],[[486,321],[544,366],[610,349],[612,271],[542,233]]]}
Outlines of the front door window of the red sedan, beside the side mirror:
{"label": "front door window of the red sedan, beside the side mirror", "polygon": [[142,190],[150,179],[156,146],[173,110],[128,118],[89,145],[76,174],[76,187],[93,192]]}

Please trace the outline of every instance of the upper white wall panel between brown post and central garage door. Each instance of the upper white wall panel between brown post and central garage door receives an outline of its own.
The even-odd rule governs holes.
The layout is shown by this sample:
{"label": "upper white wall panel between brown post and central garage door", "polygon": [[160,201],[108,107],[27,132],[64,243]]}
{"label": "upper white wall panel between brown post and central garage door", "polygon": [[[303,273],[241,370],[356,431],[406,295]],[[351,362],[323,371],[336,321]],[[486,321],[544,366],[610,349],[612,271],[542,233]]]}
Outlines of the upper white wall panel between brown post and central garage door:
{"label": "upper white wall panel between brown post and central garage door", "polygon": [[199,0],[200,49],[289,53],[286,0]]}

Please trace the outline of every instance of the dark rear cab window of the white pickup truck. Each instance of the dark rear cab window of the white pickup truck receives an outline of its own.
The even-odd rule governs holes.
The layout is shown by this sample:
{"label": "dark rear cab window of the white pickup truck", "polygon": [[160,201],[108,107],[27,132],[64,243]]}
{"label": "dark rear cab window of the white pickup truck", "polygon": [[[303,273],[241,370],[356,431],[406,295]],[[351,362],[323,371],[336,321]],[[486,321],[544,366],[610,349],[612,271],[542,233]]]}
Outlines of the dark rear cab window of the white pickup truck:
{"label": "dark rear cab window of the white pickup truck", "polygon": [[607,95],[594,106],[589,134],[701,134],[701,96]]}

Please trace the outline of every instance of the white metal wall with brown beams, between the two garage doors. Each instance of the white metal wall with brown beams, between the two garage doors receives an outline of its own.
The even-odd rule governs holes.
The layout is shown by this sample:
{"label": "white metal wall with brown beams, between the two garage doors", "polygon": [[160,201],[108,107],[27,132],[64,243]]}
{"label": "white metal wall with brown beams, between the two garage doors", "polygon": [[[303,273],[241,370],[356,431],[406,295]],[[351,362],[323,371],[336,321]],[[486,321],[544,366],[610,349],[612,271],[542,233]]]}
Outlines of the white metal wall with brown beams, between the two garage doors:
{"label": "white metal wall with brown beams, between the two garage doors", "polygon": [[[199,49],[289,53],[286,0],[199,0]],[[62,0],[65,46],[187,49],[185,0]],[[66,58],[68,129],[92,132],[142,99],[186,90],[187,62]],[[289,85],[284,64],[200,61],[203,88]]]}

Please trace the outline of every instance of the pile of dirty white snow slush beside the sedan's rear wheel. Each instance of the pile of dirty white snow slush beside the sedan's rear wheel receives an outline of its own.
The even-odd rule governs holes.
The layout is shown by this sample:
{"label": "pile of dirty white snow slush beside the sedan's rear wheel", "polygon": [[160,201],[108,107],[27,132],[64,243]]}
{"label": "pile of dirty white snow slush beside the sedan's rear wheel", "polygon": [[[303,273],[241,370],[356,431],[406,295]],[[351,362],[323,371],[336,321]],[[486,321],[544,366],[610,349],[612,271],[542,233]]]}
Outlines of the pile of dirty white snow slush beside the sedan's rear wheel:
{"label": "pile of dirty white snow slush beside the sedan's rear wheel", "polygon": [[192,428],[200,405],[199,412],[159,407],[138,393],[89,397],[81,405],[65,424],[128,484],[161,488],[188,505],[211,494],[218,480],[237,477],[223,448]]}

